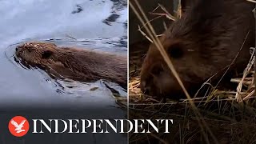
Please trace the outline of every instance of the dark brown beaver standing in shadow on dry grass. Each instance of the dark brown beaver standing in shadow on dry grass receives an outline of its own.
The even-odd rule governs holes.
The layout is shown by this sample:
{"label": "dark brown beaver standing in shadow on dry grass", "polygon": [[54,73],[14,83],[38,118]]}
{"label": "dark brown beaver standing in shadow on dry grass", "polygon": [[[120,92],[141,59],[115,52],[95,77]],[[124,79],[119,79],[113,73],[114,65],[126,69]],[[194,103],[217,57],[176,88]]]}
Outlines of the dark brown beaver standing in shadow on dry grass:
{"label": "dark brown beaver standing in shadow on dry grass", "polygon": [[[198,0],[160,38],[190,94],[214,74],[211,80],[218,82],[228,66],[229,76],[246,68],[254,46],[253,9],[244,0]],[[185,96],[154,44],[142,64],[141,89],[152,96]]]}

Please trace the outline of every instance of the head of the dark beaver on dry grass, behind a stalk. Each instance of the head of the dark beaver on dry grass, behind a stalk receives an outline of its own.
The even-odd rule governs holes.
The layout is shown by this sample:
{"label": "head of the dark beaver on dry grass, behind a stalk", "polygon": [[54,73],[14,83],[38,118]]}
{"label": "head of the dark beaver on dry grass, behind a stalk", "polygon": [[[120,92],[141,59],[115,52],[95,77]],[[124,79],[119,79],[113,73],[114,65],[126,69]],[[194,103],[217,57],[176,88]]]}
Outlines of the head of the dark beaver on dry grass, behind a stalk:
{"label": "head of the dark beaver on dry grass, behind a stalk", "polygon": [[[170,40],[166,36],[160,40],[186,88],[197,86],[212,74],[213,67],[207,66],[207,56],[200,54],[196,42],[179,38]],[[171,98],[176,99],[183,94],[178,81],[154,44],[150,46],[142,65],[141,88],[152,96],[172,96]]]}

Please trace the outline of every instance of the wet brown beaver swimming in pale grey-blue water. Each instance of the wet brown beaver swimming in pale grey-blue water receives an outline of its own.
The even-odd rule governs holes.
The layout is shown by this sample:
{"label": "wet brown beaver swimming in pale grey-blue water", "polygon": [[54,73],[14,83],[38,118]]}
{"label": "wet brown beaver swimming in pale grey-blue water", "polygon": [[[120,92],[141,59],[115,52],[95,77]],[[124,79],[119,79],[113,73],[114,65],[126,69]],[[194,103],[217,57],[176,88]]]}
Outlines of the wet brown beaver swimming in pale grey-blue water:
{"label": "wet brown beaver swimming in pale grey-blue water", "polygon": [[53,43],[29,42],[16,48],[22,63],[37,66],[54,76],[80,82],[105,79],[126,88],[126,58],[114,54],[58,47]]}

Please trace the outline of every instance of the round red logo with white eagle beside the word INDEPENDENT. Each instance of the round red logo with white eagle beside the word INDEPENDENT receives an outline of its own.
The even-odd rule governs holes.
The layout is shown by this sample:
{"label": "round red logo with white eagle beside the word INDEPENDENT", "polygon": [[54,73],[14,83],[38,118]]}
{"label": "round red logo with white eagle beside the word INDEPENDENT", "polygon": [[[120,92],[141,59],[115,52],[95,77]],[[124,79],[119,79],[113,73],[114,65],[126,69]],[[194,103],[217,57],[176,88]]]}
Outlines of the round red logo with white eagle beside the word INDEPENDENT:
{"label": "round red logo with white eagle beside the word INDEPENDENT", "polygon": [[22,137],[29,131],[30,124],[26,118],[22,116],[16,116],[10,119],[8,128],[10,134],[13,134],[16,137]]}

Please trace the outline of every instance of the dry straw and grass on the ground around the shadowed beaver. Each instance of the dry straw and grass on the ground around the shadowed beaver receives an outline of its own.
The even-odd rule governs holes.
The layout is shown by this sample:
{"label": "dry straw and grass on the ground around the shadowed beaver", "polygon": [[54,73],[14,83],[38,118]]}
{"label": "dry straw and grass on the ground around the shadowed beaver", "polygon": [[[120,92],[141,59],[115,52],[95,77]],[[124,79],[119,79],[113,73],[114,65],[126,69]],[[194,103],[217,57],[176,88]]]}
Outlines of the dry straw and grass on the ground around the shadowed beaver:
{"label": "dry straw and grass on the ground around the shadowed beaver", "polygon": [[[180,14],[177,15],[180,17]],[[147,26],[149,21],[143,22],[143,26]],[[150,26],[147,29],[147,33],[150,33]],[[157,34],[146,37],[158,43]],[[189,96],[179,102],[170,99],[163,102],[142,94],[139,73],[145,51],[144,54],[136,51],[130,53],[134,54],[130,55],[129,105],[123,103],[129,108],[129,118],[174,119],[170,134],[130,134],[130,143],[256,143],[254,49],[241,77],[230,80],[238,85],[236,90],[220,90],[211,86],[210,94],[205,97]],[[173,68],[170,66],[170,69]]]}

